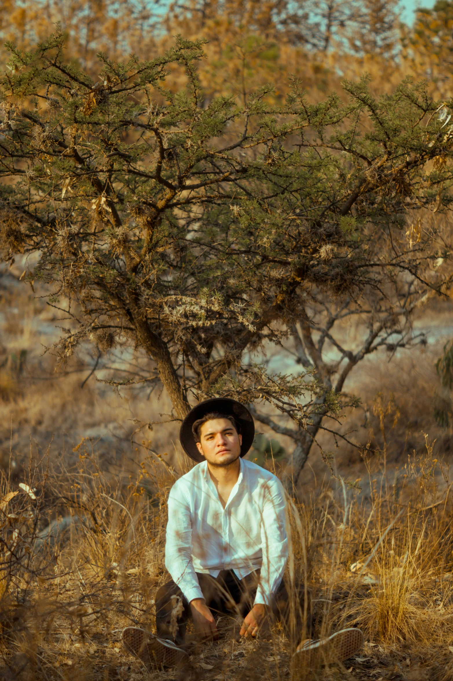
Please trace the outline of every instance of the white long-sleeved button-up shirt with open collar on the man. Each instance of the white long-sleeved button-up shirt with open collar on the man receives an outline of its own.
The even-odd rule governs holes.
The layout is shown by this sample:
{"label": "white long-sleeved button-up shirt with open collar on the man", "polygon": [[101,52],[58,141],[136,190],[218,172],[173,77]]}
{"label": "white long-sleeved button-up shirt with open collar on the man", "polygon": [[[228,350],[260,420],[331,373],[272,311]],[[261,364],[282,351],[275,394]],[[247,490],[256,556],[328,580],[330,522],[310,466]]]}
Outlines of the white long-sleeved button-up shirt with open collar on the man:
{"label": "white long-sleeved button-up shirt with open collar on the man", "polygon": [[187,601],[203,598],[196,572],[233,570],[241,580],[261,569],[255,603],[270,605],[287,562],[285,507],[279,479],[244,459],[225,508],[206,461],[178,479],[168,497],[165,565]]}

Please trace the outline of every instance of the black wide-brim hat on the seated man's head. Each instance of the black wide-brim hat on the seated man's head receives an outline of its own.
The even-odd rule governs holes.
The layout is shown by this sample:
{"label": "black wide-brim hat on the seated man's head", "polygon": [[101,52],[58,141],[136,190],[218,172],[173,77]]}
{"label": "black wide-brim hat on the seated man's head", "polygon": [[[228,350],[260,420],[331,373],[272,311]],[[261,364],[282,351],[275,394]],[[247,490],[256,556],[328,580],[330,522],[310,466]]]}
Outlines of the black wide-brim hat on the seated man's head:
{"label": "black wide-brim hat on the seated man's head", "polygon": [[211,411],[217,411],[217,413],[225,414],[225,416],[234,416],[240,427],[240,434],[243,436],[243,443],[240,445],[240,456],[245,456],[255,437],[255,424],[247,407],[244,407],[244,405],[241,405],[236,400],[232,400],[230,397],[213,397],[210,400],[204,400],[204,402],[200,402],[189,411],[179,430],[179,439],[187,456],[190,456],[191,459],[198,463],[205,460],[204,456],[198,452],[198,447],[193,437],[192,426],[198,419],[202,419]]}

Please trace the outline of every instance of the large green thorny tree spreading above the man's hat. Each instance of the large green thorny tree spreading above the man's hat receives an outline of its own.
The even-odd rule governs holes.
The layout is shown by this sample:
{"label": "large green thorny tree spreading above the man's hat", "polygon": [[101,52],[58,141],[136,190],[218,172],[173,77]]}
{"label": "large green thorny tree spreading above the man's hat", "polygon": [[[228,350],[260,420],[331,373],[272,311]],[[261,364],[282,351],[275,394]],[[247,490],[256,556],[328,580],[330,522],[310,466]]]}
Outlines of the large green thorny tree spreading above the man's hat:
{"label": "large green thorny tree spreading above the man's hat", "polygon": [[[281,108],[268,103],[271,87],[241,108],[204,100],[202,42],[178,38],[146,63],[99,54],[96,83],[65,62],[63,35],[35,52],[9,49],[3,258],[40,253],[25,280],[54,285],[50,304],[71,301],[63,358],[87,339],[140,347],[178,419],[189,398],[234,394],[310,434],[356,404],[310,347],[318,299],[330,296],[333,319],[392,300],[388,321],[374,315],[384,319],[376,344],[414,298],[448,287],[448,272],[433,274],[448,245],[406,224],[452,201],[453,125],[424,86],[376,100],[366,81],[345,82],[346,103],[332,94],[310,104],[294,82]],[[176,71],[184,91],[172,90]],[[313,366],[270,374],[263,349],[298,323]]]}

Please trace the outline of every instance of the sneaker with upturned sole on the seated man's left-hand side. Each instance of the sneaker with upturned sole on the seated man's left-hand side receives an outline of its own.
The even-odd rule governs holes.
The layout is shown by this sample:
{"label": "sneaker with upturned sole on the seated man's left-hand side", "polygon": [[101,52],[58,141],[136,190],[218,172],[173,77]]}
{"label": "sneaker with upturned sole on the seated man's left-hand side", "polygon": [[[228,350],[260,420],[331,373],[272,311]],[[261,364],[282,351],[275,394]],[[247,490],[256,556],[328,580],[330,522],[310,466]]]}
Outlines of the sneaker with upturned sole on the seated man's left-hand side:
{"label": "sneaker with upturned sole on the seated man's left-hand side", "polygon": [[146,667],[176,667],[189,661],[185,650],[140,627],[126,627],[121,638],[126,650],[138,657]]}

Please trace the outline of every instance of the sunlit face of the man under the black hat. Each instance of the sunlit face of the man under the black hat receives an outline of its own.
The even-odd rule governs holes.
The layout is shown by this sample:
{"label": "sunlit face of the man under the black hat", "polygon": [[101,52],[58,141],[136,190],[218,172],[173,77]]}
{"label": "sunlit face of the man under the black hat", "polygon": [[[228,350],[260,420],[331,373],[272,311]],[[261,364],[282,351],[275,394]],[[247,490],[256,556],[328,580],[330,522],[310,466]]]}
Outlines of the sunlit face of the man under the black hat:
{"label": "sunlit face of the man under the black hat", "polygon": [[198,451],[211,466],[229,466],[240,456],[243,436],[228,419],[211,419],[200,429]]}

